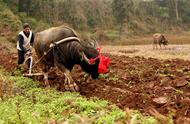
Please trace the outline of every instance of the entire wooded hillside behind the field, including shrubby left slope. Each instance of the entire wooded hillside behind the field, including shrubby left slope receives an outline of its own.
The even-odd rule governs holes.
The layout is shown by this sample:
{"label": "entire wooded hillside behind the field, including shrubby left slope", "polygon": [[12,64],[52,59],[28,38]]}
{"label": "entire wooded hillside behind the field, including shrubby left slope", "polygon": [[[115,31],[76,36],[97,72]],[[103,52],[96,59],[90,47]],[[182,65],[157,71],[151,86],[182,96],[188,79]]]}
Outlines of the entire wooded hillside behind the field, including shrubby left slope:
{"label": "entire wooded hillside behind the field, including shrubby left slope", "polygon": [[[0,0],[0,3],[0,33],[12,41],[24,22],[30,23],[34,32],[68,25],[104,44],[150,44],[151,39],[141,41],[141,38],[150,38],[155,32],[170,35],[171,39],[176,34],[189,35],[188,0],[177,3],[174,0]],[[184,43],[190,41],[187,35]],[[181,42],[172,39],[171,43]]]}

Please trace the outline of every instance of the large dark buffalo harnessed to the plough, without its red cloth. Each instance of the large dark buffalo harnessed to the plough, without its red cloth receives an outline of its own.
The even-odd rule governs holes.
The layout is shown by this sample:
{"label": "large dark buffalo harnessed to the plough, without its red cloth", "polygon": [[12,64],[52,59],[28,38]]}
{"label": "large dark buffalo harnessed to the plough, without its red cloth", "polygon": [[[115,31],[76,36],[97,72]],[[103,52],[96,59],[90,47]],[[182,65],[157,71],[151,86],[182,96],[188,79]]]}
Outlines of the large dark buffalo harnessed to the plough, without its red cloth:
{"label": "large dark buffalo harnessed to the plough, without its red cloth", "polygon": [[[70,75],[75,64],[89,73],[93,79],[98,78],[99,59],[90,63],[90,58],[96,58],[99,52],[95,43],[84,44],[75,31],[69,27],[53,27],[36,34],[34,48],[39,58],[42,58],[45,84],[48,83],[48,70],[57,67],[65,75],[65,89],[78,91],[79,88]],[[93,44],[93,45],[92,45]]]}

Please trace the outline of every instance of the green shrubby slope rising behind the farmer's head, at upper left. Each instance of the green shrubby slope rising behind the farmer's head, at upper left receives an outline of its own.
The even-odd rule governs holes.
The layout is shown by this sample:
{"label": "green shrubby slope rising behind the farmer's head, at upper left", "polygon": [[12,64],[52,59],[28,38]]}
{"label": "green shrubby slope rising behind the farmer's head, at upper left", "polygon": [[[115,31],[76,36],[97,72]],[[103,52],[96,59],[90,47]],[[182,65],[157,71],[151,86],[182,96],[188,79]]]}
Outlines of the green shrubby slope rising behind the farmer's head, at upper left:
{"label": "green shrubby slope rising behind the farmer's head, at upper left", "polygon": [[15,6],[14,0],[0,0],[0,36],[6,38],[8,41],[17,41],[17,33],[22,29],[22,23],[24,22],[30,23],[34,32],[49,27],[49,24],[29,17],[25,12],[16,13],[16,8],[17,6]]}

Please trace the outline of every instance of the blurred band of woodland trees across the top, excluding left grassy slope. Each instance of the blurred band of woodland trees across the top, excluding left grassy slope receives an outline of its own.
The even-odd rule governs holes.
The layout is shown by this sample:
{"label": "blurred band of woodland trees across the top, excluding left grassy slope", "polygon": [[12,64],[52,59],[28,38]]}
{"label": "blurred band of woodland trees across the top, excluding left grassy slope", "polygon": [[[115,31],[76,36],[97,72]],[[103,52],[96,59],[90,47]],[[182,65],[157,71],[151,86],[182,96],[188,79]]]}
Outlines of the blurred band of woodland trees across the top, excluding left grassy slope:
{"label": "blurred band of woodland trees across the top, excluding left grassy slope", "polygon": [[34,27],[40,26],[39,22],[67,24],[76,30],[114,29],[124,36],[179,32],[188,30],[190,24],[189,0],[1,0],[0,3],[10,7],[18,17],[23,13],[24,17],[30,17],[21,21],[29,21]]}

